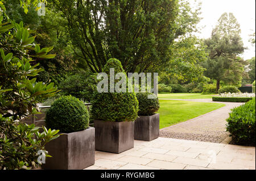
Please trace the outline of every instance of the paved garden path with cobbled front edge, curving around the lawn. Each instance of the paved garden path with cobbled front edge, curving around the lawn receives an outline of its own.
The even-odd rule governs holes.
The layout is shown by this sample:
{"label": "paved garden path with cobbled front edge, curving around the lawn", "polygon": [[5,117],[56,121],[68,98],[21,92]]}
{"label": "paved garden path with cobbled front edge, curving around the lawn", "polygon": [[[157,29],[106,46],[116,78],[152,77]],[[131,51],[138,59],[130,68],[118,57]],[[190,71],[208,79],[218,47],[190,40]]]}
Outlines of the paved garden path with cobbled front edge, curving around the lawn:
{"label": "paved garden path with cobbled front edge, curving around the lawn", "polygon": [[[212,99],[170,99],[193,102],[212,102]],[[226,119],[232,108],[241,106],[243,103],[214,102],[223,103],[226,106],[217,110],[205,113],[188,121],[171,125],[160,129],[160,137],[177,138],[184,140],[196,140],[220,143],[225,140],[230,141],[229,133],[226,132]]]}

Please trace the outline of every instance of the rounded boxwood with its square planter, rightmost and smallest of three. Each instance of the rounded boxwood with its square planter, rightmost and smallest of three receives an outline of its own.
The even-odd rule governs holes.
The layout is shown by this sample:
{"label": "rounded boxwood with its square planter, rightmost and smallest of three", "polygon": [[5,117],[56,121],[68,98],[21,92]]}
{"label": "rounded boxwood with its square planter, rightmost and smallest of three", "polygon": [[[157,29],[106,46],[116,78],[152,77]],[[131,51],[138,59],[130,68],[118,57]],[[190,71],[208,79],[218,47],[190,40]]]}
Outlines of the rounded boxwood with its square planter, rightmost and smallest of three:
{"label": "rounded boxwood with its square planter, rightmost and smallest of three", "polygon": [[[155,96],[149,99],[148,95]],[[159,137],[159,100],[155,94],[139,92],[136,94],[139,102],[139,117],[134,123],[134,139],[151,141]]]}

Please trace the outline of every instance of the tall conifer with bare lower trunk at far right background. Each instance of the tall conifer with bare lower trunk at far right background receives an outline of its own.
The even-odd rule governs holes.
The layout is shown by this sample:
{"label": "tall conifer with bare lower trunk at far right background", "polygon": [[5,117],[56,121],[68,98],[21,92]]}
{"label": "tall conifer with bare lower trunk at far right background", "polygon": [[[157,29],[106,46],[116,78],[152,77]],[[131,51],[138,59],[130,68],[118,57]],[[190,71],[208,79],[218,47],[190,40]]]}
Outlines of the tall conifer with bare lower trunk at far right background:
{"label": "tall conifer with bare lower trunk at far right background", "polygon": [[245,49],[240,37],[240,24],[232,13],[226,12],[218,19],[210,39],[205,40],[208,60],[203,63],[205,75],[215,79],[216,92],[220,89],[220,81],[240,86],[244,61],[239,54]]}

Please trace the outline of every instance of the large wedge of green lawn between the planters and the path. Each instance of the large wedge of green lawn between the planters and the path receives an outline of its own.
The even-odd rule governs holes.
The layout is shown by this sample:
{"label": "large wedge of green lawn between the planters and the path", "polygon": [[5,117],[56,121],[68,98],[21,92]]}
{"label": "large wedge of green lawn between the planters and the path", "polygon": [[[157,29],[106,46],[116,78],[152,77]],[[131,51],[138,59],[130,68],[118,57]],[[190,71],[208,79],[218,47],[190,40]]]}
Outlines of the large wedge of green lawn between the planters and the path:
{"label": "large wedge of green lawn between the planters and the path", "polygon": [[184,100],[159,100],[159,103],[160,129],[225,106],[222,103],[201,103]]}

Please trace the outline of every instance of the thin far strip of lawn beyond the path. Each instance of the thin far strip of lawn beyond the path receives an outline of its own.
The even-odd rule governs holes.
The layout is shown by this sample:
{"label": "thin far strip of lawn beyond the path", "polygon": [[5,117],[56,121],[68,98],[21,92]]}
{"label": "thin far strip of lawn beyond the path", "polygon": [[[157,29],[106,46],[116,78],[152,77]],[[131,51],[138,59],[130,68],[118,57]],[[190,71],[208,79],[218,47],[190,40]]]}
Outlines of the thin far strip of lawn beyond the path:
{"label": "thin far strip of lawn beyond the path", "polygon": [[159,99],[211,99],[216,94],[201,94],[201,93],[171,93],[158,94]]}

